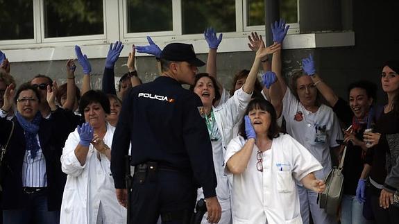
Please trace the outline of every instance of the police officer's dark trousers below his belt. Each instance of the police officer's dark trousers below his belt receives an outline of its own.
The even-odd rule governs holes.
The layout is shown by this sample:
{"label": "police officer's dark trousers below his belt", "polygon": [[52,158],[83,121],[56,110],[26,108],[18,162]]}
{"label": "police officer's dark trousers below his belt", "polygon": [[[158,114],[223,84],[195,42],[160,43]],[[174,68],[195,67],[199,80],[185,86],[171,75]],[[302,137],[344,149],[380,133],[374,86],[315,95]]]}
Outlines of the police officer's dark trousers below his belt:
{"label": "police officer's dark trousers below his belt", "polygon": [[[144,179],[144,180],[143,180]],[[130,224],[186,224],[194,212],[196,187],[192,175],[158,169],[133,175]]]}

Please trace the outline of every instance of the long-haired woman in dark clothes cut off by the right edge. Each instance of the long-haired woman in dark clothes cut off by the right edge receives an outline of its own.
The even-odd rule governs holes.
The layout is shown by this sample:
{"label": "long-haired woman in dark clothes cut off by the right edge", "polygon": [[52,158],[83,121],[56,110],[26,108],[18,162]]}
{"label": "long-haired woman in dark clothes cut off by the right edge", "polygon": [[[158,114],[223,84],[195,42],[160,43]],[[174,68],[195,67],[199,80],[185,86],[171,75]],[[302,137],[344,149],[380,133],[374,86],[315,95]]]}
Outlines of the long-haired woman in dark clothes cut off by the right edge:
{"label": "long-haired woman in dark clothes cut off by the right edge", "polygon": [[[382,90],[388,96],[377,119],[374,132],[364,133],[369,149],[366,163],[371,166],[371,205],[376,223],[398,223],[398,169],[399,169],[399,60],[385,62],[382,67]],[[367,167],[364,172],[367,172]],[[359,182],[360,184],[360,182]],[[396,195],[396,197],[394,197]],[[393,206],[396,198],[396,206]]]}

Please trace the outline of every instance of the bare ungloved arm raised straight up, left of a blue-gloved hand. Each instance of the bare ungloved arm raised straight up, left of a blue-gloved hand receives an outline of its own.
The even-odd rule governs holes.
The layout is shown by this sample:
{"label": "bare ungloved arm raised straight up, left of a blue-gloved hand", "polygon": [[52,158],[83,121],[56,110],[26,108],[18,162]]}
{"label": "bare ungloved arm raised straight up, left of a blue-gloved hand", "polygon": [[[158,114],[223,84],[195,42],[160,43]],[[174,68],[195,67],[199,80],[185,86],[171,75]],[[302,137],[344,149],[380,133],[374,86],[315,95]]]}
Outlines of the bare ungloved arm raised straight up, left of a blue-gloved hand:
{"label": "bare ungloved arm raised straight up, left of a blue-gloved hand", "polygon": [[76,65],[73,59],[67,61],[67,100],[62,108],[67,110],[74,110],[74,103],[76,100],[76,83],[75,83],[75,69]]}

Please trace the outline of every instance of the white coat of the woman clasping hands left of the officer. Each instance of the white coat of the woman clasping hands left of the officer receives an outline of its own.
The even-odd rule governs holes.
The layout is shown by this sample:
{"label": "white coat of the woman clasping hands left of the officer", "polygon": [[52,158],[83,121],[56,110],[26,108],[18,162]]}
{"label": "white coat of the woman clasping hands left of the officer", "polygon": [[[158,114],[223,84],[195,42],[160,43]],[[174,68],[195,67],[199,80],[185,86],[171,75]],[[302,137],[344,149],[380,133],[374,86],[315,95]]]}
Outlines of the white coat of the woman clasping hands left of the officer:
{"label": "white coat of the woman clasping hands left of the officer", "polygon": [[[114,130],[107,123],[103,141],[108,146],[112,145]],[[126,223],[126,209],[119,205],[115,195],[110,160],[90,144],[86,163],[80,166],[74,153],[79,141],[78,131],[71,132],[62,151],[62,171],[68,176],[62,196],[60,224],[92,224],[98,216],[102,217],[102,223]]]}

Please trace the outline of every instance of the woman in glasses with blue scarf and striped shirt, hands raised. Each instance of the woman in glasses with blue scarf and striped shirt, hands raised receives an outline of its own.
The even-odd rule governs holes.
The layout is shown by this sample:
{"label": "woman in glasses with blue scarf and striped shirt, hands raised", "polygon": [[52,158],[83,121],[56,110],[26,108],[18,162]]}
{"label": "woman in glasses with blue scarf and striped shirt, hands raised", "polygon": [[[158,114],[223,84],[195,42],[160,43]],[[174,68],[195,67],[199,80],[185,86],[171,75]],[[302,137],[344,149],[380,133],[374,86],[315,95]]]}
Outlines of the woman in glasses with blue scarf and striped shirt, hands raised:
{"label": "woman in glasses with blue scarf and striped shirt, hands raised", "polygon": [[40,113],[40,92],[25,83],[15,93],[15,117],[8,121],[14,89],[6,88],[0,113],[0,144],[7,145],[1,182],[3,223],[58,223],[65,174],[61,171],[60,146],[69,126],[56,106],[56,83],[46,87],[51,119]]}

